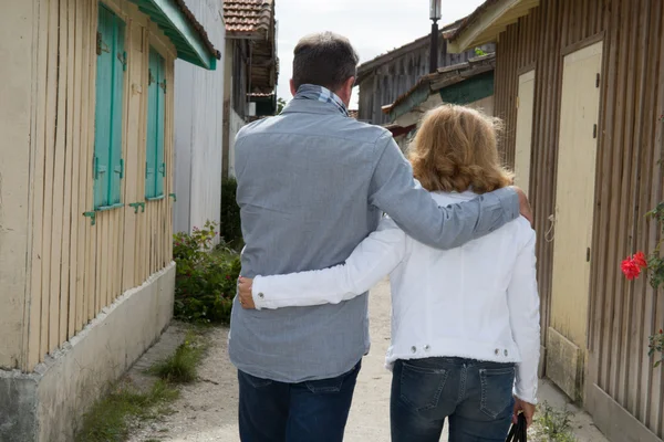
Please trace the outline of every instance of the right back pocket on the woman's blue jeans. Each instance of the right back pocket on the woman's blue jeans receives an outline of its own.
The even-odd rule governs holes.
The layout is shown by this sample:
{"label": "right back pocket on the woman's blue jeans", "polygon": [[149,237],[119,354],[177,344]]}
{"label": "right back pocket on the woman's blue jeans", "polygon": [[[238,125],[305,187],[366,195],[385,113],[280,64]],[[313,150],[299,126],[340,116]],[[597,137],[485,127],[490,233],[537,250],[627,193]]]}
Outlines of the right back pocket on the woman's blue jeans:
{"label": "right back pocket on the woman's blue jeans", "polygon": [[[496,419],[512,406],[515,367],[481,368],[481,411]],[[510,410],[511,412],[511,410]]]}

